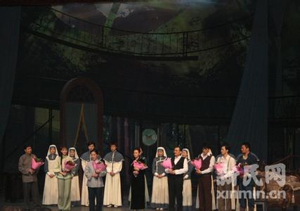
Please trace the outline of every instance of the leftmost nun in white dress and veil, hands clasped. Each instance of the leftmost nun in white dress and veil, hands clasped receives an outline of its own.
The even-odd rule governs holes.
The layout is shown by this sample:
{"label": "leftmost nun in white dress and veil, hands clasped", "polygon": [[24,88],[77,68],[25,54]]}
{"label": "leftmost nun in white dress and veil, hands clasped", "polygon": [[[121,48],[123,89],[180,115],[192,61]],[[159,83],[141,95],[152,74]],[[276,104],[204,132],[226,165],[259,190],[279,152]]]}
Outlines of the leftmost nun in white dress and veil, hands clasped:
{"label": "leftmost nun in white dress and veil, hands clasped", "polygon": [[46,176],[42,203],[43,205],[57,205],[58,179],[56,178],[56,174],[60,172],[60,157],[55,145],[51,145],[48,148],[44,170]]}

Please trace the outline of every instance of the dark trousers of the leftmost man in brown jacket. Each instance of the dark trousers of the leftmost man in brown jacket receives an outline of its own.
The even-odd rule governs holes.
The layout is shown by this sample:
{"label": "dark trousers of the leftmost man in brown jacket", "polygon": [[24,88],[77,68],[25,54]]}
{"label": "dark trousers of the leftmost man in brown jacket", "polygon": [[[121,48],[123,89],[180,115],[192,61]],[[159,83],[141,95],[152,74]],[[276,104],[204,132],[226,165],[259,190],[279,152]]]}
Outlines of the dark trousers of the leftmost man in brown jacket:
{"label": "dark trousers of the leftmost man in brown jacket", "polygon": [[39,206],[39,189],[37,187],[37,181],[32,182],[23,182],[23,193],[24,193],[24,202],[27,207],[30,207],[30,193],[32,196],[32,201],[34,206]]}

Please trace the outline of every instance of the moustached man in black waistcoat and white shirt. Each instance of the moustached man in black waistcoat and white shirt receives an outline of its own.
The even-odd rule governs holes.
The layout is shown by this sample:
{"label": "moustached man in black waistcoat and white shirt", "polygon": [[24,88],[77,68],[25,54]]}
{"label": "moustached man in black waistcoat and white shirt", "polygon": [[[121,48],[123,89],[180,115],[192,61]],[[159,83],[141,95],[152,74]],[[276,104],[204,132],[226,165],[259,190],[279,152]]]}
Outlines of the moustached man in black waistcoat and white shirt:
{"label": "moustached man in black waistcoat and white shirt", "polygon": [[171,159],[172,169],[165,169],[168,174],[169,185],[169,210],[175,210],[175,198],[177,201],[177,211],[183,210],[183,174],[188,172],[188,160],[181,157],[181,148],[174,148],[174,158]]}

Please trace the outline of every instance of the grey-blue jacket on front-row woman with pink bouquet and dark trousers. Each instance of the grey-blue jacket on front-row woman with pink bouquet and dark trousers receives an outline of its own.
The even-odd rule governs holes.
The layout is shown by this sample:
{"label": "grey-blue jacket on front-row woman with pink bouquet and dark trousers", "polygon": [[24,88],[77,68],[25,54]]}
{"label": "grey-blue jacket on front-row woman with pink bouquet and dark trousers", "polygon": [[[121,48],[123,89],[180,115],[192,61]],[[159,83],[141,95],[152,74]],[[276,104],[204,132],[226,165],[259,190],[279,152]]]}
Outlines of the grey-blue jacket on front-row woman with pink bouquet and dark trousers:
{"label": "grey-blue jacket on front-row woman with pink bouquet and dark trousers", "polygon": [[95,173],[95,170],[93,168],[93,161],[89,161],[86,165],[86,169],[84,170],[84,174],[86,175],[86,178],[88,179],[88,181],[86,182],[86,186],[90,187],[90,188],[101,188],[104,186],[103,183],[103,179],[102,177],[104,177],[106,175],[106,170],[101,172],[99,174],[99,177],[95,178],[92,177],[93,173]]}

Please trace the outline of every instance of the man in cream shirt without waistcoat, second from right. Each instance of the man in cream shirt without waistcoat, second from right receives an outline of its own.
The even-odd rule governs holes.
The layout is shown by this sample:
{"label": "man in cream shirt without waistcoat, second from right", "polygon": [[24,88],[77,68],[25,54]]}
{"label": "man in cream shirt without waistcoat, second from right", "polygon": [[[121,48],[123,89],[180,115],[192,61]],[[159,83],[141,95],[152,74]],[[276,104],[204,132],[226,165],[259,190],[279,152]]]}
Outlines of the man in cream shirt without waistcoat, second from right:
{"label": "man in cream shirt without waistcoat, second from right", "polygon": [[[219,156],[219,158],[217,158],[216,160],[216,163],[223,163],[223,170],[217,172],[217,190],[220,193],[218,197],[218,210],[220,211],[231,210],[230,191],[233,191],[232,183],[234,174],[233,168],[235,167],[235,158],[229,155],[229,151],[230,146],[228,146],[228,143],[223,143],[221,146],[221,156]],[[225,198],[220,196],[225,196]]]}

